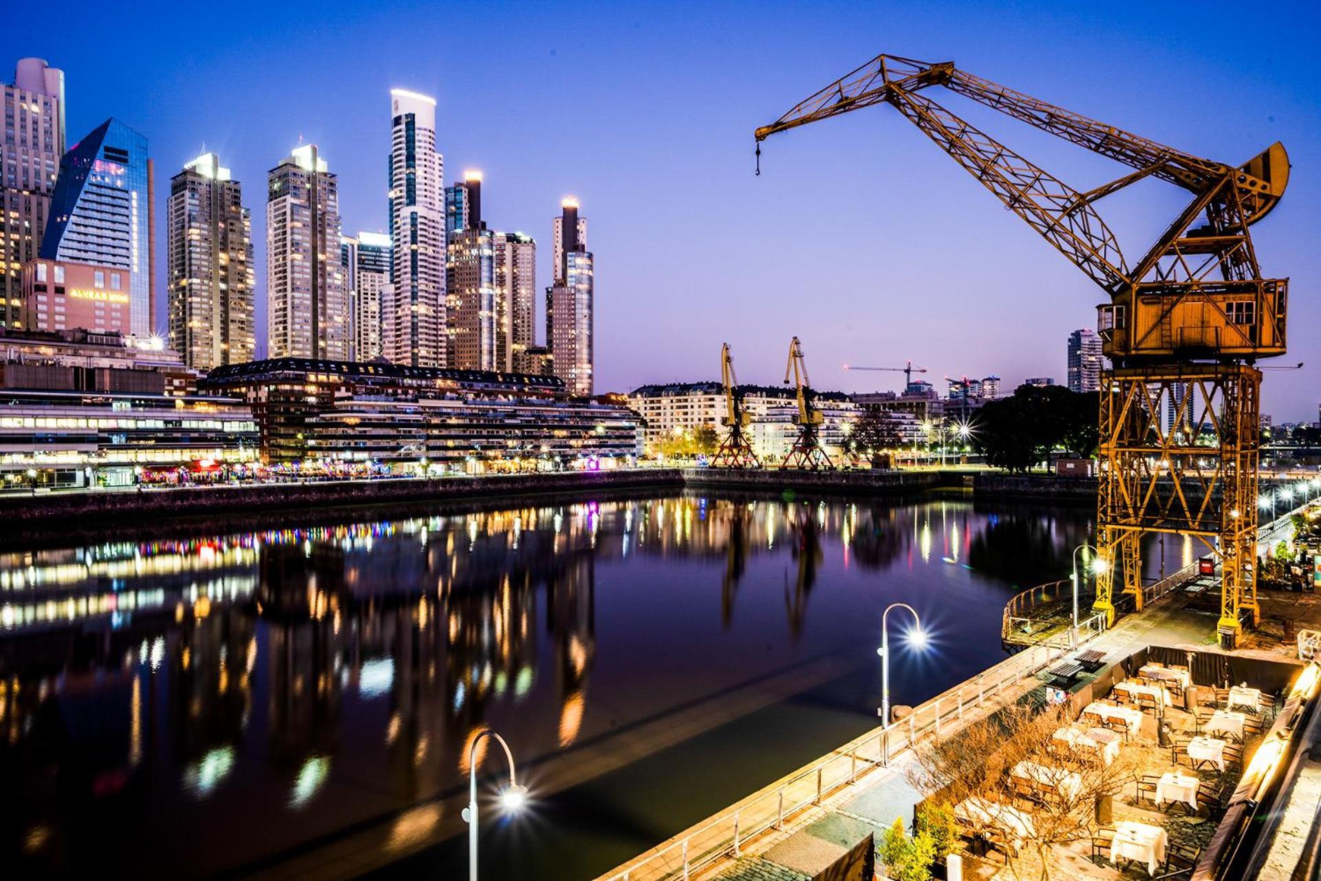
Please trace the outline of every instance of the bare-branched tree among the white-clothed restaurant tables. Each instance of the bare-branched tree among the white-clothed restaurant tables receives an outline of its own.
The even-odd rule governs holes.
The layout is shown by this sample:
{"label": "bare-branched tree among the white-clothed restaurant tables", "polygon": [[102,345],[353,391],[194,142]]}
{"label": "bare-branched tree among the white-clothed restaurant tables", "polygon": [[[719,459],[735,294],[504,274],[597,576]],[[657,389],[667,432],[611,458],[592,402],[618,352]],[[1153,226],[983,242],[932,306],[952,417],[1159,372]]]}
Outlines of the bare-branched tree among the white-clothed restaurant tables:
{"label": "bare-branched tree among the white-clothed restaurant tables", "polygon": [[[1015,802],[1020,796],[1013,769],[1020,762],[1041,765],[1061,781],[1067,774],[1066,783],[1034,794],[1032,828],[1016,832],[1024,851],[1030,849],[1034,856],[1040,877],[1049,880],[1055,845],[1090,839],[1099,827],[1096,806],[1100,799],[1114,796],[1135,779],[1133,766],[1124,756],[1106,765],[1091,756],[1055,749],[1053,734],[1069,722],[1070,716],[1062,707],[1038,711],[1026,700],[1012,704],[988,719],[919,745],[909,781],[930,803],[952,807],[968,798]],[[1018,865],[1011,865],[1015,877],[1020,877]]]}

